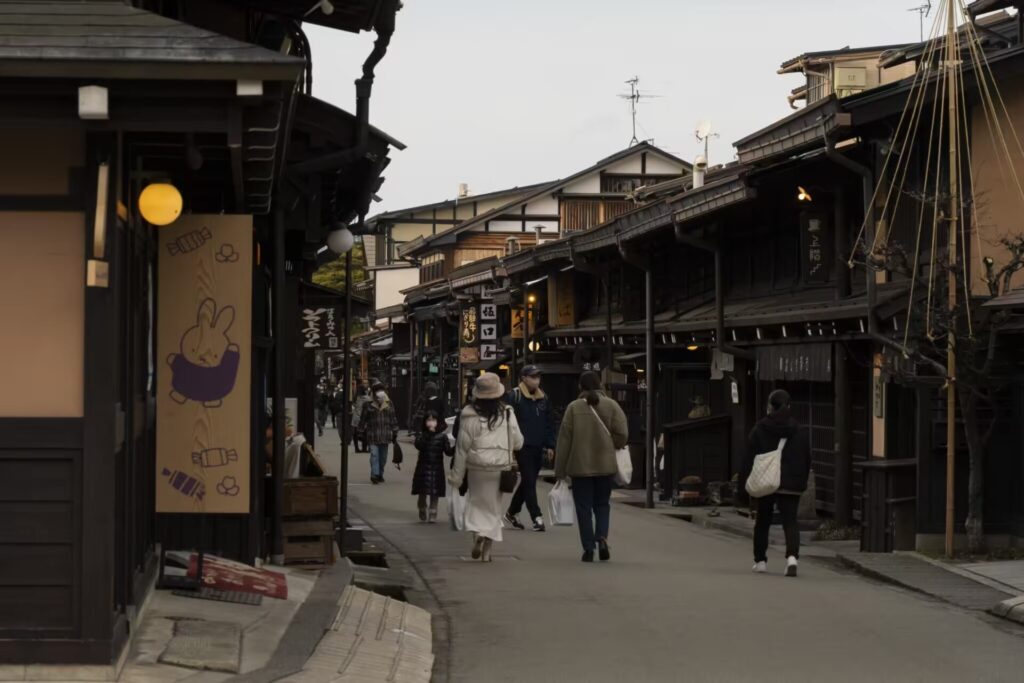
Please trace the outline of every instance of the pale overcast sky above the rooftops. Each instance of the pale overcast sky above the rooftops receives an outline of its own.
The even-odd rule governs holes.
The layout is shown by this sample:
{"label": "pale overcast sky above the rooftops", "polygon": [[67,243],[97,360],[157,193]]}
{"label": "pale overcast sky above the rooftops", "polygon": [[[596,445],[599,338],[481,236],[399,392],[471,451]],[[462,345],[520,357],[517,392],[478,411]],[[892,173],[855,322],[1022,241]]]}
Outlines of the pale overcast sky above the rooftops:
{"label": "pale overcast sky above the rooftops", "polygon": [[[913,42],[924,0],[406,0],[377,69],[374,125],[392,152],[372,213],[564,177],[638,137],[692,160],[711,121],[711,162],[791,110],[803,52]],[[933,13],[934,18],[934,13]],[[317,97],[354,112],[374,34],[308,26]],[[928,29],[926,28],[926,34]]]}

